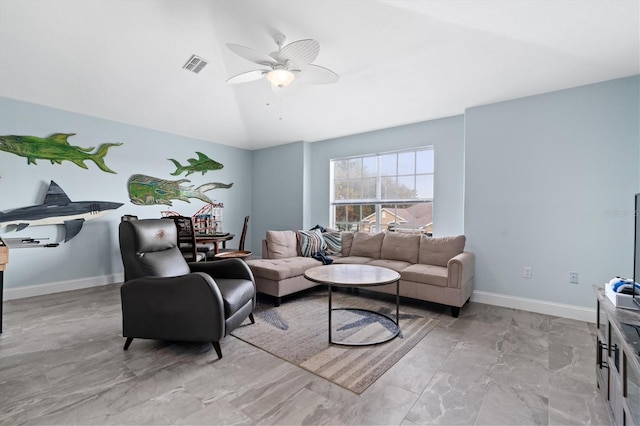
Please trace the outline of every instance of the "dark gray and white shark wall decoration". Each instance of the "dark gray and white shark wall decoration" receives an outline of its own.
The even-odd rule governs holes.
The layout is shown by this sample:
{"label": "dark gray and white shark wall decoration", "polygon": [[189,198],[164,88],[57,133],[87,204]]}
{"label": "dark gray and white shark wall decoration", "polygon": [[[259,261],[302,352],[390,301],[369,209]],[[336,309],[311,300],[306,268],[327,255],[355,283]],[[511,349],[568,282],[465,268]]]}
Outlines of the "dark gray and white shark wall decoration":
{"label": "dark gray and white shark wall decoration", "polygon": [[17,225],[17,231],[30,225],[64,225],[66,243],[78,235],[85,220],[104,216],[122,205],[109,201],[71,201],[62,188],[51,181],[44,203],[0,213],[0,225]]}

